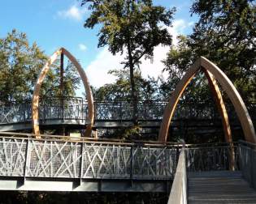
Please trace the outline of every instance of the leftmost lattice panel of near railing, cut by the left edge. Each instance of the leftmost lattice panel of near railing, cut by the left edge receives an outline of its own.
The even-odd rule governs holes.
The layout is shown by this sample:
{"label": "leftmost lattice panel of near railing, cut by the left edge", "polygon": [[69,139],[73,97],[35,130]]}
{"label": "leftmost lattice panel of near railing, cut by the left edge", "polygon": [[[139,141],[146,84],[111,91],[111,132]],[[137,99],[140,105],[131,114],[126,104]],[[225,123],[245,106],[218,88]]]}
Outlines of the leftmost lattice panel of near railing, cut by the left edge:
{"label": "leftmost lattice panel of near railing, cut by the left edge", "polygon": [[0,138],[0,176],[23,176],[27,141]]}

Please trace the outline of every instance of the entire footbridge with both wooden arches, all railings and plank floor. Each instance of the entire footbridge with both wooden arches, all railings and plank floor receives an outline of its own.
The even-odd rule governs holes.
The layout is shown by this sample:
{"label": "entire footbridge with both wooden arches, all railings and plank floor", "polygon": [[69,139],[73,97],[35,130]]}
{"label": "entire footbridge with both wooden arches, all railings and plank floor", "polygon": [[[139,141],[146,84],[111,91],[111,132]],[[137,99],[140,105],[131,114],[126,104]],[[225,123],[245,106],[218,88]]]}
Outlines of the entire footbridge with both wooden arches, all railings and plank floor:
{"label": "entire footbridge with both wooden arches, all railings and plank floor", "polygon": [[[40,98],[43,79],[59,55],[61,64],[66,55],[76,66],[86,100]],[[216,109],[210,104],[178,103],[198,71],[206,74]],[[233,108],[224,104],[219,85]],[[89,138],[93,129],[132,125],[132,103],[93,101],[85,71],[71,53],[59,49],[41,70],[31,102],[0,105],[0,190],[169,193],[171,189],[169,203],[256,203],[255,104],[245,105],[218,66],[200,57],[168,101],[137,105],[139,125],[157,127],[158,142],[106,141],[96,134]],[[180,121],[187,120],[194,129],[204,124],[223,129],[226,143],[167,142],[171,128],[180,128]],[[233,142],[234,124],[241,127],[246,142]],[[41,134],[44,126],[58,125],[83,127],[85,134],[78,138]],[[10,132],[14,130],[34,134]]]}

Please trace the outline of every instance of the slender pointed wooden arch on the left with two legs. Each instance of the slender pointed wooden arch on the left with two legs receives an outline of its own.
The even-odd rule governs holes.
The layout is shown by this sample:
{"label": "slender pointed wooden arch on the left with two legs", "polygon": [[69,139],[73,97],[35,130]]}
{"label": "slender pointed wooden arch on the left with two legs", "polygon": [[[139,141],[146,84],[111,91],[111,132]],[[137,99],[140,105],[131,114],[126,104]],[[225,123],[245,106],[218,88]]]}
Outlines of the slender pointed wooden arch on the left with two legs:
{"label": "slender pointed wooden arch on the left with two legs", "polygon": [[72,56],[71,53],[67,51],[67,49],[60,48],[58,49],[46,62],[46,65],[42,68],[41,73],[38,76],[37,83],[35,84],[34,91],[33,91],[33,100],[32,100],[32,122],[33,122],[33,133],[37,135],[37,138],[40,138],[40,128],[39,128],[39,93],[41,89],[41,84],[46,77],[47,72],[50,70],[50,65],[54,63],[57,57],[61,55],[63,64],[63,55],[65,55],[73,64],[76,66],[78,73],[80,74],[80,78],[83,81],[86,93],[86,100],[88,101],[88,116],[89,116],[89,124],[86,125],[85,130],[85,137],[89,137],[92,129],[93,129],[93,122],[94,122],[94,105],[93,105],[93,94],[91,88],[89,86],[89,81],[85,74],[85,71],[80,66],[80,63],[77,62],[76,58]]}

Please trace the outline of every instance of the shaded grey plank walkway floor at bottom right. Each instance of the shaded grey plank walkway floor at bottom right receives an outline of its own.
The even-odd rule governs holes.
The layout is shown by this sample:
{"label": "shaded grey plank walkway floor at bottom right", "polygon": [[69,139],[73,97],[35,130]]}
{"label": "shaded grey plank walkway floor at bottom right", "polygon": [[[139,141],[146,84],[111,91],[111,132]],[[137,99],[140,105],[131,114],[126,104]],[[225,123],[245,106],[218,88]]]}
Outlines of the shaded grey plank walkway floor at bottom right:
{"label": "shaded grey plank walkway floor at bottom right", "polygon": [[240,171],[191,172],[188,174],[188,202],[256,203],[256,191]]}

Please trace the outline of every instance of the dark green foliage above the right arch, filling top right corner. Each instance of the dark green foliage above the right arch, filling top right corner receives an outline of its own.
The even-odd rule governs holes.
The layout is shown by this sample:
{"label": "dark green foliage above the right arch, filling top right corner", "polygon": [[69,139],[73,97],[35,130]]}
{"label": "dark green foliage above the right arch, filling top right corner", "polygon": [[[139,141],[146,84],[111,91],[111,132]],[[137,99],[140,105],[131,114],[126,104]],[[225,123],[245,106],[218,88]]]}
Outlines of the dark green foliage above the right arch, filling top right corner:
{"label": "dark green foliage above the right arch, filling top right corner", "polygon": [[164,62],[171,87],[198,57],[205,56],[228,75],[245,100],[255,101],[256,7],[252,1],[197,0],[191,11],[199,15],[192,35],[180,36]]}

